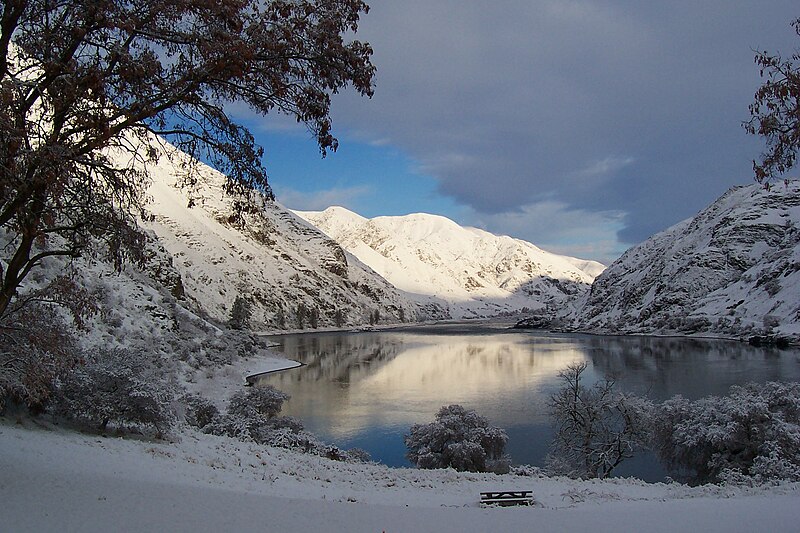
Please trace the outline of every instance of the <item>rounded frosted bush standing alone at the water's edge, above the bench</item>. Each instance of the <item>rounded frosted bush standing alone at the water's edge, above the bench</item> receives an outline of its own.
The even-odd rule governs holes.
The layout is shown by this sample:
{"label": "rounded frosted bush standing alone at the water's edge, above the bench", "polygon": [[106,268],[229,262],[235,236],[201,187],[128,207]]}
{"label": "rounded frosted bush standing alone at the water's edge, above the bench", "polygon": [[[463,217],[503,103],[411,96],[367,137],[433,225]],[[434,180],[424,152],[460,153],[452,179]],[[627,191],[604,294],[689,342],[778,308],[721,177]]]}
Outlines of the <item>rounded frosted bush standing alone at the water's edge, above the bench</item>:
{"label": "rounded frosted bush standing alone at the water's edge, above the bench", "polygon": [[460,405],[442,407],[430,424],[415,424],[404,441],[406,457],[419,468],[469,472],[508,472],[508,436],[475,411]]}

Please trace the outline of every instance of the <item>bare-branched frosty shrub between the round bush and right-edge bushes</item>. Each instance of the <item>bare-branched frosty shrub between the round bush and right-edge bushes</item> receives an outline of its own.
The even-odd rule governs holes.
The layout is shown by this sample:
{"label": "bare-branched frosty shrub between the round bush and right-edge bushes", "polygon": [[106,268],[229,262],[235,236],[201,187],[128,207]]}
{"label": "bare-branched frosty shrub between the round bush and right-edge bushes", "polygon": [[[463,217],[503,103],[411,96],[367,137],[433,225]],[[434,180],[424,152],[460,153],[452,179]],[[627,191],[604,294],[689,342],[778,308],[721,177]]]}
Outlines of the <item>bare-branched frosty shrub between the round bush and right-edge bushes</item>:
{"label": "bare-branched frosty shrub between the round bush and right-edge bushes", "polygon": [[559,372],[564,386],[550,398],[555,435],[547,458],[551,473],[605,478],[650,441],[652,403],[614,390],[605,380],[581,383],[586,363]]}

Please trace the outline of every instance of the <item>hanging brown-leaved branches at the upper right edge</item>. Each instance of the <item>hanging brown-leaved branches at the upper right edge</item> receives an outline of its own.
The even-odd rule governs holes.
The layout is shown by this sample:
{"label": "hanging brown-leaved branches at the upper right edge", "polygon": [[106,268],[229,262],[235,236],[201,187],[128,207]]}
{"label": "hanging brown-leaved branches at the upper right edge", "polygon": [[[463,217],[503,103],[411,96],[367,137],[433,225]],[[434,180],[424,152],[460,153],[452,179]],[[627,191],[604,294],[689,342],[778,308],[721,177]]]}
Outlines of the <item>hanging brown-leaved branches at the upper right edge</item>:
{"label": "hanging brown-leaved branches at the upper right edge", "polygon": [[[800,18],[792,22],[800,36]],[[761,77],[766,78],[750,104],[750,120],[744,123],[748,133],[761,135],[767,151],[761,161],[753,161],[756,181],[770,181],[788,172],[797,163],[800,149],[800,52],[789,59],[765,51],[756,54]]]}

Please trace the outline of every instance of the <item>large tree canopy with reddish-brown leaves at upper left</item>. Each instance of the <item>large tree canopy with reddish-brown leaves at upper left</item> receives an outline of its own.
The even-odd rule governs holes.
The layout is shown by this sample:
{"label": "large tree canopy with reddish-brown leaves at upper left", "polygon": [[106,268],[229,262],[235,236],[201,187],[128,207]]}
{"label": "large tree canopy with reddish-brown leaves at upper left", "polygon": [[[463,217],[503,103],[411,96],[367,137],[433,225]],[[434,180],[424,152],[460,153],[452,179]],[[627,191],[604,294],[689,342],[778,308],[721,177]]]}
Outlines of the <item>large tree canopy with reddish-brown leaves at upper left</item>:
{"label": "large tree canopy with reddish-brown leaves at upper left", "polygon": [[[5,0],[0,16],[0,317],[51,255],[136,235],[152,134],[271,197],[262,149],[226,106],[295,116],[336,150],[331,94],[371,96],[361,0]],[[144,142],[142,142],[144,141]],[[121,168],[108,149],[132,150]],[[246,205],[246,204],[245,204]]]}

